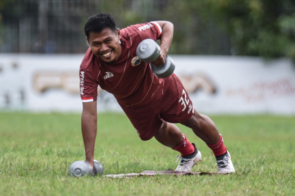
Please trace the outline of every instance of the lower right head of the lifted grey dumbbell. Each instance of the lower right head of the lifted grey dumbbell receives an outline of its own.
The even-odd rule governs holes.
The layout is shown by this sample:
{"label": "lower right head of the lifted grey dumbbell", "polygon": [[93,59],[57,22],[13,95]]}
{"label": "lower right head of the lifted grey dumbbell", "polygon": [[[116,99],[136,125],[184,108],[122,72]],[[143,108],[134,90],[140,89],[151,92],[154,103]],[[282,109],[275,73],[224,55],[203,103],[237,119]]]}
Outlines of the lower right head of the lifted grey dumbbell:
{"label": "lower right head of the lifted grey dumbbell", "polygon": [[172,58],[170,58],[170,56],[166,55],[166,61],[163,65],[155,66],[154,64],[152,64],[151,67],[152,71],[155,73],[156,76],[158,76],[158,78],[167,78],[173,73],[175,69],[175,63]]}

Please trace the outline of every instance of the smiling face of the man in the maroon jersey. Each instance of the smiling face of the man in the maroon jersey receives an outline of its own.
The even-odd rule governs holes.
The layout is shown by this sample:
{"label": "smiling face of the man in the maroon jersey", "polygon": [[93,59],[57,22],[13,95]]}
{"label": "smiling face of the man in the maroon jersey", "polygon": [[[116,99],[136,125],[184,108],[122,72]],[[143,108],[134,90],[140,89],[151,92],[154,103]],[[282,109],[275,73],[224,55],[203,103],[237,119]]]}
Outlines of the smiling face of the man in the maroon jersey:
{"label": "smiling face of the man in the maroon jersey", "polygon": [[121,54],[119,39],[121,39],[119,29],[117,33],[114,33],[111,29],[106,28],[100,33],[90,32],[87,41],[95,56],[106,63],[113,63]]}

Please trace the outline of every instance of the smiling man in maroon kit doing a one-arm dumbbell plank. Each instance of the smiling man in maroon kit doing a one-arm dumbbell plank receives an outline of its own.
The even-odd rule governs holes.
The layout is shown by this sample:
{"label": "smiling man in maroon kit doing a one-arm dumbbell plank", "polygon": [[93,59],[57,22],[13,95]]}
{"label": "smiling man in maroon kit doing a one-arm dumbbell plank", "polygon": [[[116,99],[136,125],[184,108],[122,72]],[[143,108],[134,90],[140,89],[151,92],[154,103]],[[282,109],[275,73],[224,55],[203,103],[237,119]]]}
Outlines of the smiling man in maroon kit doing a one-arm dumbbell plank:
{"label": "smiling man in maroon kit doing a one-arm dumbbell plank", "polygon": [[172,42],[171,22],[154,21],[120,30],[112,16],[96,14],[88,19],[84,30],[90,47],[80,66],[81,126],[86,161],[92,167],[99,85],[114,95],[140,139],[154,137],[181,153],[176,171],[189,172],[201,161],[201,152],[173,123],[191,128],[212,149],[218,172],[235,172],[222,136],[210,118],[194,110],[178,77],[173,73],[168,78],[158,78],[150,65],[136,56],[137,45],[142,40],[160,39],[160,55],[153,64],[162,65]]}

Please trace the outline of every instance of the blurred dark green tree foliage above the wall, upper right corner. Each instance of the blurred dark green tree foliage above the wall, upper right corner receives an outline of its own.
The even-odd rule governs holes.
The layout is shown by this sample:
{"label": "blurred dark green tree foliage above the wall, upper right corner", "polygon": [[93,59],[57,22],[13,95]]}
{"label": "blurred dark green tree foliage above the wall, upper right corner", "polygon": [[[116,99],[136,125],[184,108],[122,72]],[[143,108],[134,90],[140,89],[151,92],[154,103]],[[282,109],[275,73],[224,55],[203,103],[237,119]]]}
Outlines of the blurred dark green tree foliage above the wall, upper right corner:
{"label": "blurred dark green tree foliage above the wall, upper right corner", "polygon": [[294,0],[205,0],[199,12],[230,33],[237,55],[295,59]]}

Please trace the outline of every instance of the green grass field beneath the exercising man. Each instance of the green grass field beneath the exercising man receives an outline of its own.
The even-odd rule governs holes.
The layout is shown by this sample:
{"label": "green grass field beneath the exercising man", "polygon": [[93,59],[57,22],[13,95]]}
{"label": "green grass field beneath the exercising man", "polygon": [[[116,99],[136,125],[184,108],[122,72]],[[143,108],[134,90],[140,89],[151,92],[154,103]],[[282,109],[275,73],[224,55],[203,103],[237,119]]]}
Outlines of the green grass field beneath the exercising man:
{"label": "green grass field beneath the exercising man", "polygon": [[[295,195],[295,116],[210,116],[232,155],[236,173],[135,178],[68,177],[84,160],[80,114],[0,113],[0,195]],[[193,171],[216,172],[213,153],[191,130],[203,161]],[[124,114],[98,116],[95,159],[104,174],[175,169],[178,153],[155,139],[141,141]]]}

